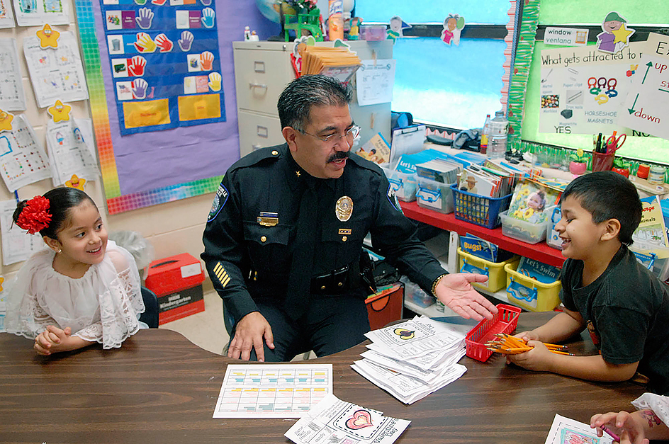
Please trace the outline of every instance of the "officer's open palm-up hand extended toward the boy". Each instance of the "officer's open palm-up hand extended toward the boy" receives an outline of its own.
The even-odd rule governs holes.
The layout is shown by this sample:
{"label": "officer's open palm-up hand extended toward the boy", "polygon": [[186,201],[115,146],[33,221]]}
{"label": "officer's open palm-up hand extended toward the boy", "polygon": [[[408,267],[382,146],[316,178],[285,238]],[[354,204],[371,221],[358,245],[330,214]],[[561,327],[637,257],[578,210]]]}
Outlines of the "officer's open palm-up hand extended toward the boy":
{"label": "officer's open palm-up hand extended toward the boy", "polygon": [[485,282],[488,276],[474,273],[455,273],[445,275],[434,292],[446,307],[465,319],[480,321],[483,317],[493,319],[497,307],[485,299],[471,286],[473,282]]}

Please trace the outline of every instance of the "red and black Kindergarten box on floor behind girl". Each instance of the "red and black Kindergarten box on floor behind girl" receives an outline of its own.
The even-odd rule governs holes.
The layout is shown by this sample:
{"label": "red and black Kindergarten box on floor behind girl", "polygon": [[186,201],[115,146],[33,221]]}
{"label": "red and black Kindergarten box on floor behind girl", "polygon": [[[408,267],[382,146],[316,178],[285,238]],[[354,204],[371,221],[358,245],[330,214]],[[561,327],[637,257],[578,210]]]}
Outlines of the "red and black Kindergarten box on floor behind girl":
{"label": "red and black Kindergarten box on floor behind girl", "polygon": [[204,311],[204,271],[191,254],[153,261],[145,286],[158,297],[158,324]]}

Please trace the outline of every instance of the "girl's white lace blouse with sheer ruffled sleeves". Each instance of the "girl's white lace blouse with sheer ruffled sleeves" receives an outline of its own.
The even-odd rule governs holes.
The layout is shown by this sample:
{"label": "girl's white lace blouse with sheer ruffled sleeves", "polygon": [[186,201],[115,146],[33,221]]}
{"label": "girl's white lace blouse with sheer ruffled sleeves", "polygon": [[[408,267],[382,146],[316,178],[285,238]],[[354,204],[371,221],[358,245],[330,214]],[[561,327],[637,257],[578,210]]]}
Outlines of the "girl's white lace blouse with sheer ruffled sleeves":
{"label": "girl's white lace blouse with sheer ruffled sleeves", "polygon": [[69,326],[72,336],[118,348],[140,329],[140,275],[127,250],[108,241],[103,261],[79,279],[55,271],[54,256],[45,249],[23,264],[7,296],[6,331],[35,338],[48,325]]}

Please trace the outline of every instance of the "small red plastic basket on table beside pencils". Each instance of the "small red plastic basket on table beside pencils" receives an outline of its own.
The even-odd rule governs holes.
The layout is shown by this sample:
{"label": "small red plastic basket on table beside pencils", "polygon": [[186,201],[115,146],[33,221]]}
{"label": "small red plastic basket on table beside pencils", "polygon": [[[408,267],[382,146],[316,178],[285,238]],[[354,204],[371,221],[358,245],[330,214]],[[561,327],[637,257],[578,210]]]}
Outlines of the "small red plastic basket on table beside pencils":
{"label": "small red plastic basket on table beside pencils", "polygon": [[520,312],[522,309],[519,307],[497,304],[497,314],[493,319],[483,319],[467,334],[467,355],[481,362],[488,360],[493,351],[488,350],[485,343],[495,339],[497,333],[511,334],[518,325]]}

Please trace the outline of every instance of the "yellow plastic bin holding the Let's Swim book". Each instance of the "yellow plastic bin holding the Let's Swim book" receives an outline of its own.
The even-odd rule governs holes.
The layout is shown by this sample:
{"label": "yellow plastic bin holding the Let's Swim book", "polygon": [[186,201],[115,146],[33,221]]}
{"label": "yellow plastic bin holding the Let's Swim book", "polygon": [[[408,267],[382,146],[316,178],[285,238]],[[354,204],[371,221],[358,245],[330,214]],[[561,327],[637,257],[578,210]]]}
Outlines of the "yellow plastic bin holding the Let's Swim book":
{"label": "yellow plastic bin holding the Let's Swim book", "polygon": [[518,304],[532,312],[550,312],[560,304],[562,283],[556,280],[545,284],[516,271],[518,264],[507,263],[507,297],[512,304]]}

